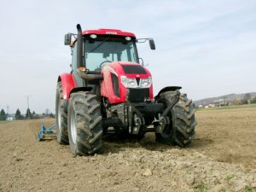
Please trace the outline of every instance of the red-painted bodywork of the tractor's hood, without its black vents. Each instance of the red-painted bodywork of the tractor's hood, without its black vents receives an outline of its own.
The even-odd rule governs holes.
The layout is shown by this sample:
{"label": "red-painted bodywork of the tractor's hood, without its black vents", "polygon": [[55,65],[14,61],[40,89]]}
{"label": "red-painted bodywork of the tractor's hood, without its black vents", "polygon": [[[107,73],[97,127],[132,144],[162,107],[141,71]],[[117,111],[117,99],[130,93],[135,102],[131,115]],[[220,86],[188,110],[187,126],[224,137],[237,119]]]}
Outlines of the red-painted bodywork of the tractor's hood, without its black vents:
{"label": "red-painted bodywork of the tractor's hood, without its black vents", "polygon": [[[112,62],[103,67],[102,74],[103,74],[103,81],[101,84],[101,93],[102,96],[105,96],[108,98],[108,101],[110,103],[119,103],[119,102],[126,102],[126,94],[127,94],[127,88],[121,83],[121,76],[125,76],[127,78],[135,78],[135,79],[146,79],[148,77],[151,77],[151,73],[149,73],[148,69],[143,67],[146,71],[146,74],[137,74],[137,73],[130,73],[125,74],[124,69],[121,65],[139,65],[137,63],[132,62]],[[115,96],[113,91],[113,83],[111,79],[111,73],[115,74],[118,77],[119,80],[119,96]],[[139,89],[139,88],[138,88]],[[149,97],[151,100],[153,100],[153,85],[151,84],[149,87]]]}

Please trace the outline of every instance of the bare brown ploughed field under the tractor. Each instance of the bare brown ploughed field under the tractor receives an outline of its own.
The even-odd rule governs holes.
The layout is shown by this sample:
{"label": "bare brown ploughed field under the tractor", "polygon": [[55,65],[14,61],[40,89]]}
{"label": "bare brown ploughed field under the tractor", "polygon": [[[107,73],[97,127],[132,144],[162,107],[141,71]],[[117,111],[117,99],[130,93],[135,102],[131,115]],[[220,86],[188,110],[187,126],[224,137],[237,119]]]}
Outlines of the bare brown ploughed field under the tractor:
{"label": "bare brown ploughed field under the tractor", "polygon": [[0,124],[0,191],[256,191],[256,108],[199,110],[189,148],[146,134],[107,137],[99,154],[76,156],[38,142],[40,122]]}

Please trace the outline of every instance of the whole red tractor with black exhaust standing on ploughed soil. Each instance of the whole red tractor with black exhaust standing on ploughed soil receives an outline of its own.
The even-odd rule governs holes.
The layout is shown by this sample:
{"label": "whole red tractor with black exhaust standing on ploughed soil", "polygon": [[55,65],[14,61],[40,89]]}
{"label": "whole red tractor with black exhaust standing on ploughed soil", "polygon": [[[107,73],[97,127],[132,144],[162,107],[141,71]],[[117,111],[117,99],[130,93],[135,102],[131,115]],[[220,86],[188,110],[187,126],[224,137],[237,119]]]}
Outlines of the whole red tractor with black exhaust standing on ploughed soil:
{"label": "whole red tractor with black exhaust standing on ploughed soil", "polygon": [[185,147],[195,137],[195,107],[181,87],[168,86],[153,95],[151,73],[139,64],[136,38],[113,29],[67,33],[72,49],[71,73],[58,77],[56,132],[58,143],[69,143],[73,154],[94,154],[102,134],[143,138],[154,132],[156,141]]}

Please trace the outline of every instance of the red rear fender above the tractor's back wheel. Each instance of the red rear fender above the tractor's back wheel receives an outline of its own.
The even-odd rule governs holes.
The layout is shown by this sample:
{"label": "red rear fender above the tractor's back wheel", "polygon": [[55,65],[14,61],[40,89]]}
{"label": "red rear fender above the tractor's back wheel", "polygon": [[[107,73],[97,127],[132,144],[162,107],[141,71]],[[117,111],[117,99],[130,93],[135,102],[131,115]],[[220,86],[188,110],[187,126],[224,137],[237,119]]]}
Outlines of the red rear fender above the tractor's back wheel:
{"label": "red rear fender above the tractor's back wheel", "polygon": [[73,74],[70,73],[63,73],[58,78],[58,82],[62,83],[62,91],[63,91],[63,99],[69,99],[70,91],[76,87],[76,83],[73,79]]}

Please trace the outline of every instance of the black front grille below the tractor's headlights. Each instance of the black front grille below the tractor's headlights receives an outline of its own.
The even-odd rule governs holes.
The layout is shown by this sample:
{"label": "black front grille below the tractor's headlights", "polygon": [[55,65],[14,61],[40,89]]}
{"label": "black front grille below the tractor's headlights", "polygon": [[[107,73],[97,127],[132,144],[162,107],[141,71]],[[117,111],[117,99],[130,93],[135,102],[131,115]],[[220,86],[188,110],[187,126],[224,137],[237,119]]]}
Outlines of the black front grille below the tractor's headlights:
{"label": "black front grille below the tractor's headlights", "polygon": [[133,89],[129,90],[129,100],[131,102],[144,102],[145,98],[149,97],[149,88],[146,89]]}

